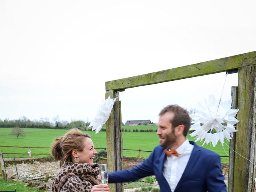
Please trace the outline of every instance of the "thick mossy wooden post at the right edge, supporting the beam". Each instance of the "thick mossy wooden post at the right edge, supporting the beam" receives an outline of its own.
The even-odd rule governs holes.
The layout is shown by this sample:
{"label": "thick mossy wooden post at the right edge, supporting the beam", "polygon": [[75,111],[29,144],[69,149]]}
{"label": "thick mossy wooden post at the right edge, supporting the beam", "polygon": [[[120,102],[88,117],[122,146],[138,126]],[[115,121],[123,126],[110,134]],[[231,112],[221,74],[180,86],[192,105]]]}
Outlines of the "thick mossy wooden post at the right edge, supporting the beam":
{"label": "thick mossy wooden post at the right edge, supporting the beam", "polygon": [[[245,60],[246,62],[246,60]],[[255,164],[256,62],[238,70],[238,122],[236,152]],[[252,192],[255,188],[254,165],[235,154],[233,191]]]}

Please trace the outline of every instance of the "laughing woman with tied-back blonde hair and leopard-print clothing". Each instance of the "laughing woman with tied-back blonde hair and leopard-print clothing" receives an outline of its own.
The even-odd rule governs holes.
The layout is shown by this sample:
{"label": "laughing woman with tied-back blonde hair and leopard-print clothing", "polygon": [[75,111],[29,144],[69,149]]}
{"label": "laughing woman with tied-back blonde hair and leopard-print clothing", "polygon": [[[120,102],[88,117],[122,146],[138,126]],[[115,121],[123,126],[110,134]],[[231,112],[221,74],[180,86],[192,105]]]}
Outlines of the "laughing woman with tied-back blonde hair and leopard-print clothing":
{"label": "laughing woman with tied-back blonde hair and leopard-print clothing", "polygon": [[109,192],[106,184],[99,184],[100,165],[93,160],[97,151],[90,136],[74,128],[55,138],[51,149],[62,170],[52,184],[53,192]]}

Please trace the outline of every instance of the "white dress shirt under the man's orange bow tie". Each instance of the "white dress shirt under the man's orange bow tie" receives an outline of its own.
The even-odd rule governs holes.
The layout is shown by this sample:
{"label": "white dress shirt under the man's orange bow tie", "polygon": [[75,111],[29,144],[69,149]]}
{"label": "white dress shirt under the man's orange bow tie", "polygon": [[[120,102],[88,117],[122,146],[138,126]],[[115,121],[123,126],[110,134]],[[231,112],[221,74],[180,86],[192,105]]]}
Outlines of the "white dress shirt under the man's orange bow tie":
{"label": "white dress shirt under the man's orange bow tie", "polygon": [[176,149],[179,155],[178,157],[174,155],[166,157],[163,167],[163,175],[172,191],[175,190],[178,182],[180,181],[193,148],[194,145],[190,144],[188,139],[186,139],[186,141]]}

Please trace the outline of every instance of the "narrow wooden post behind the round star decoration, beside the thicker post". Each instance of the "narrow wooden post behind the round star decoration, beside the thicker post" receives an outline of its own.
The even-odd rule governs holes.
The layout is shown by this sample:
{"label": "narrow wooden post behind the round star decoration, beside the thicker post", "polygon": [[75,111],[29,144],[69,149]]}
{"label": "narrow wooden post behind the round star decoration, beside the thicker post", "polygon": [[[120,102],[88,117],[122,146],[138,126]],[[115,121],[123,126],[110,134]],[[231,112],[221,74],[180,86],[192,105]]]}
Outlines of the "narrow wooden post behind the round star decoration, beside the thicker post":
{"label": "narrow wooden post behind the round star decoration, beside the thicker post", "polygon": [[[237,89],[238,87],[233,86],[231,88],[231,98],[232,98],[232,109],[237,109]],[[236,132],[234,132],[232,140],[230,140],[229,146],[233,150],[235,149],[236,144]],[[228,192],[233,192],[233,181],[234,181],[234,160],[235,152],[229,149],[229,168],[228,168]]]}

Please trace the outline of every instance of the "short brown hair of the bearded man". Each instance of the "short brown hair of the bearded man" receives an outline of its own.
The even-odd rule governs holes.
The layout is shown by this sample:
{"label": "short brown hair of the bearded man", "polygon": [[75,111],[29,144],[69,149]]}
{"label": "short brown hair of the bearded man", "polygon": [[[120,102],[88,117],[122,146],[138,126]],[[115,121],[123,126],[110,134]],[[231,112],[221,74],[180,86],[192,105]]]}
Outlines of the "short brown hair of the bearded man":
{"label": "short brown hair of the bearded man", "polygon": [[175,128],[179,125],[184,125],[185,128],[183,131],[183,135],[186,137],[191,124],[191,118],[188,114],[188,111],[176,104],[168,105],[160,111],[159,116],[162,116],[166,112],[174,113],[174,118],[170,119],[170,123],[172,123],[172,128]]}

